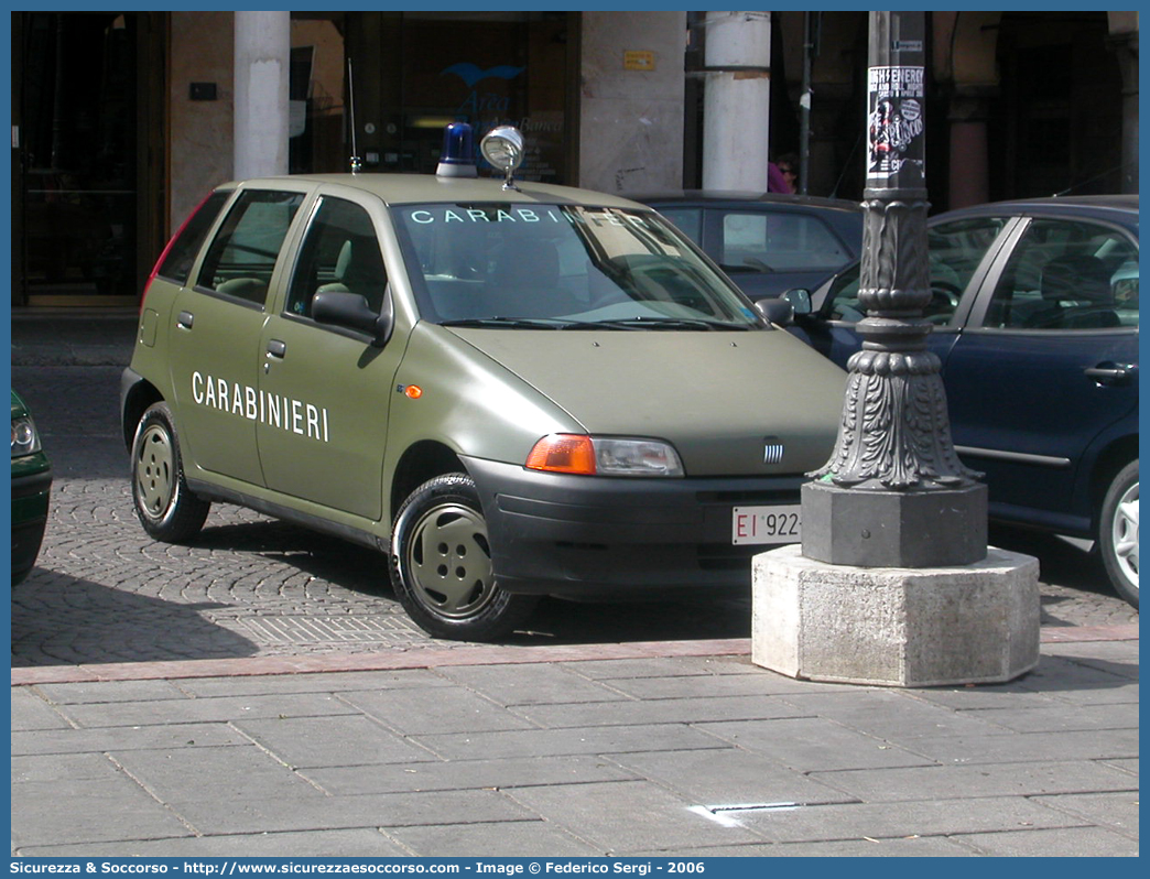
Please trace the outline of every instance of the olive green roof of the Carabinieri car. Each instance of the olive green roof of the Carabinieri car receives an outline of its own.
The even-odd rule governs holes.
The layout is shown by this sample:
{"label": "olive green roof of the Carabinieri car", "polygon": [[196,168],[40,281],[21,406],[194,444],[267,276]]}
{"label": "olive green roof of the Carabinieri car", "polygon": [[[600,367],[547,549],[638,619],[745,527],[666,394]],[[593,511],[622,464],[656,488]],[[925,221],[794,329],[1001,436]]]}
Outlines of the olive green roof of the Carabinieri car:
{"label": "olive green roof of the Carabinieri car", "polygon": [[218,189],[291,185],[343,186],[377,196],[384,202],[424,204],[438,201],[483,201],[496,204],[580,204],[600,207],[647,209],[646,206],[619,196],[593,190],[516,181],[515,189],[505,189],[494,177],[437,177],[434,174],[293,174],[282,177],[253,177],[232,181]]}

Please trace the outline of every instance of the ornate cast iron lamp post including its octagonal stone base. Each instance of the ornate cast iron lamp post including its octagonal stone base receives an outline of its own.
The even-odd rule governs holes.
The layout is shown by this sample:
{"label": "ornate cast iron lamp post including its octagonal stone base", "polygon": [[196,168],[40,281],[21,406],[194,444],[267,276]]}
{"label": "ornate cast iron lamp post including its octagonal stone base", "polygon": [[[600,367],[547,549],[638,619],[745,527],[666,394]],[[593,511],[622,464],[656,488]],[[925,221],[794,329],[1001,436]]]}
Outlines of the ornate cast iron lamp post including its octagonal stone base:
{"label": "ornate cast iron lamp post including its octagonal stone base", "polygon": [[792,678],[999,682],[1038,663],[1038,563],[987,548],[987,488],[954,453],[930,299],[923,14],[871,13],[858,330],[803,546],[754,559],[751,659]]}

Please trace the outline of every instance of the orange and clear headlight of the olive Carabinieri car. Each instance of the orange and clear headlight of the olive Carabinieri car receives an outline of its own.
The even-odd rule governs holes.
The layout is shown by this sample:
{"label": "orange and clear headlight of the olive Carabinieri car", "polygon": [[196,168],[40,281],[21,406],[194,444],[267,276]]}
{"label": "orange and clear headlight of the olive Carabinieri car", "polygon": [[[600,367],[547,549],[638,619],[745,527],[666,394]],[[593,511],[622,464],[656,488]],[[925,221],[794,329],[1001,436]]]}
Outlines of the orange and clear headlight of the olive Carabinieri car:
{"label": "orange and clear headlight of the olive Carabinieri car", "polygon": [[550,434],[531,449],[527,468],[586,476],[682,476],[683,465],[668,443]]}

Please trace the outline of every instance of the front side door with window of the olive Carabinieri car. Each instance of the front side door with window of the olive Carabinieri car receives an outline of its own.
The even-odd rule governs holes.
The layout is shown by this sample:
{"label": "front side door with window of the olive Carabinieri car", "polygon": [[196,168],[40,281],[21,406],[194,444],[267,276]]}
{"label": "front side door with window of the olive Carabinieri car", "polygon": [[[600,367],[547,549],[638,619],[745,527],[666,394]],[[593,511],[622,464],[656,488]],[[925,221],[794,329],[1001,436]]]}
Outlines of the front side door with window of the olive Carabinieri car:
{"label": "front side door with window of the olive Carabinieri car", "polygon": [[383,206],[356,198],[321,193],[310,212],[286,297],[260,339],[255,430],[268,488],[378,521],[402,339],[374,346],[312,316],[320,290],[361,295],[377,313],[390,296],[377,232]]}

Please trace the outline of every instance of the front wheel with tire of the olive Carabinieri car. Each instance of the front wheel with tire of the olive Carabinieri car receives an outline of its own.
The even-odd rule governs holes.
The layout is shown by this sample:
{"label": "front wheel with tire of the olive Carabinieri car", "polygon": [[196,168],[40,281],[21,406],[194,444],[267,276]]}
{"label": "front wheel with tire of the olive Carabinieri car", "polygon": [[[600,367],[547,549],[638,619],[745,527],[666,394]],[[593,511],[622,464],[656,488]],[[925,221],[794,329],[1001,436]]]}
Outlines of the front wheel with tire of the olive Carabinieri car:
{"label": "front wheel with tire of the olive Carabinieri car", "polygon": [[424,482],[399,507],[391,581],[420,628],[453,641],[494,641],[522,625],[538,603],[496,583],[480,495],[463,473]]}

